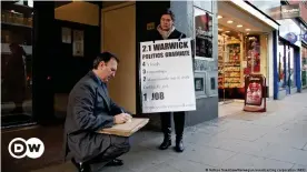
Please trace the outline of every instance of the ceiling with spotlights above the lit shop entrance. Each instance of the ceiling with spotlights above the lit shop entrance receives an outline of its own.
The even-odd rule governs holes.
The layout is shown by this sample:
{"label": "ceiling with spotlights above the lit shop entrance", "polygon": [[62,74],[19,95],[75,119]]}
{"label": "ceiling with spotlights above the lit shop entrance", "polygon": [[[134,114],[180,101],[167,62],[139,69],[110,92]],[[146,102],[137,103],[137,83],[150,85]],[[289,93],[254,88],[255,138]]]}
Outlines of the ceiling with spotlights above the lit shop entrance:
{"label": "ceiling with spotlights above the lit shop entrance", "polygon": [[[249,13],[236,7],[231,2],[218,1],[218,16],[222,17],[218,19],[219,29],[221,31],[237,31],[247,33],[267,33],[273,29],[254,18]],[[232,23],[230,23],[232,21]]]}

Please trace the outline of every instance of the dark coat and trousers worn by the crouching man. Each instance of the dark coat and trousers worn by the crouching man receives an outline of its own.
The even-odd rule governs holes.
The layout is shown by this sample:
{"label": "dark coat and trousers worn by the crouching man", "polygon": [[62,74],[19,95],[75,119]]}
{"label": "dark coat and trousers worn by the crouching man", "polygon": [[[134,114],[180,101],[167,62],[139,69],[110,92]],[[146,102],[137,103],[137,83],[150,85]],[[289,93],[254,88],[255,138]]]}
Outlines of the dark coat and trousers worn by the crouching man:
{"label": "dark coat and trousers worn by the crouching man", "polygon": [[113,115],[120,107],[109,98],[107,88],[90,71],[71,90],[65,123],[65,156],[72,155],[86,162],[102,153],[110,144],[110,136],[96,131],[113,125]]}

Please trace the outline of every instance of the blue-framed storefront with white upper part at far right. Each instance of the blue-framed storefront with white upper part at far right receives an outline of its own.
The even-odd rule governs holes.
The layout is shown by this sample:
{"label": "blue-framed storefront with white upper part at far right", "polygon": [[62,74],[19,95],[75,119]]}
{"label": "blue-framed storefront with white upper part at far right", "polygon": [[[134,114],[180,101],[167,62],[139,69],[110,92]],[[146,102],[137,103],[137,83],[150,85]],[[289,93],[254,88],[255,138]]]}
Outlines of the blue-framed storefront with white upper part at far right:
{"label": "blue-framed storefront with white upper part at far right", "polygon": [[296,20],[284,19],[278,22],[280,27],[277,45],[277,99],[283,99],[287,94],[300,91],[301,41],[300,27]]}

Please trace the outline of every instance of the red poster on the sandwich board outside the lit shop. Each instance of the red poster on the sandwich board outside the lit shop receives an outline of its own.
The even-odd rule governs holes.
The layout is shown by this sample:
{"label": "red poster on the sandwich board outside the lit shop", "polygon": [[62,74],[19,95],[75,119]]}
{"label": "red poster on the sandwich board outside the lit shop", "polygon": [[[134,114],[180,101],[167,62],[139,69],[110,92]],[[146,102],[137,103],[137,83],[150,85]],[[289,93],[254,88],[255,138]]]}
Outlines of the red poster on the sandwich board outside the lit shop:
{"label": "red poster on the sandwich board outside the lit shop", "polygon": [[246,78],[246,104],[261,105],[263,103],[263,85],[261,75],[249,75]]}

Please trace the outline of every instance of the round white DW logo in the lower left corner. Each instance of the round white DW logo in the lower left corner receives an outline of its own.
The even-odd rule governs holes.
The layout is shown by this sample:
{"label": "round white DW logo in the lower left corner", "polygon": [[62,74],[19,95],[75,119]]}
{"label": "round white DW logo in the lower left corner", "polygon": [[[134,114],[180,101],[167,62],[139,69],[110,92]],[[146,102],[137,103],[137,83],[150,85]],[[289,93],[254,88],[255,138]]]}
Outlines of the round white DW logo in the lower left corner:
{"label": "round white DW logo in the lower left corner", "polygon": [[9,152],[16,159],[22,159],[26,155],[30,159],[38,159],[44,151],[42,141],[38,138],[24,140],[22,138],[13,139],[9,144]]}

